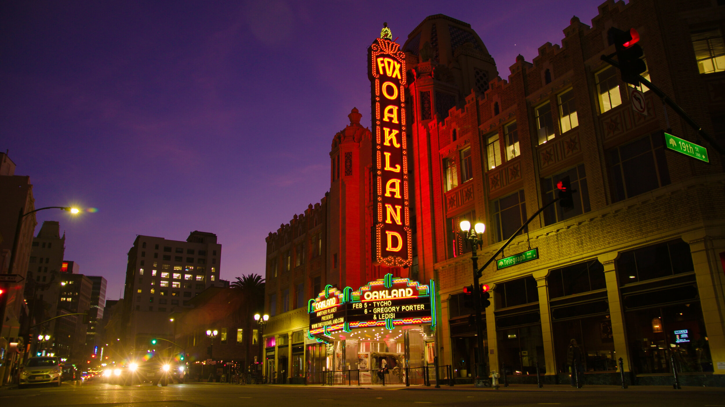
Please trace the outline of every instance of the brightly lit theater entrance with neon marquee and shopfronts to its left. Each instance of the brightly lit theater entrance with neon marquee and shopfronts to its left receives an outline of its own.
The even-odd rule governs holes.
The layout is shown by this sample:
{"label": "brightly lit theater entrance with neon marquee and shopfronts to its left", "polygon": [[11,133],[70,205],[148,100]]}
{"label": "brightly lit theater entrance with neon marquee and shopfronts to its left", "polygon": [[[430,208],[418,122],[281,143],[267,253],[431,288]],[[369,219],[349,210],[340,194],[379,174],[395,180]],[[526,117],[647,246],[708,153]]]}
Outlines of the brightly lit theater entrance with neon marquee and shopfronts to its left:
{"label": "brightly lit theater entrance with neon marquee and shopfronts to its left", "polygon": [[263,338],[265,381],[427,384],[436,374],[433,290],[433,282],[392,274],[357,291],[328,285],[308,303],[304,327],[301,315],[290,315],[286,324],[270,319],[279,328]]}

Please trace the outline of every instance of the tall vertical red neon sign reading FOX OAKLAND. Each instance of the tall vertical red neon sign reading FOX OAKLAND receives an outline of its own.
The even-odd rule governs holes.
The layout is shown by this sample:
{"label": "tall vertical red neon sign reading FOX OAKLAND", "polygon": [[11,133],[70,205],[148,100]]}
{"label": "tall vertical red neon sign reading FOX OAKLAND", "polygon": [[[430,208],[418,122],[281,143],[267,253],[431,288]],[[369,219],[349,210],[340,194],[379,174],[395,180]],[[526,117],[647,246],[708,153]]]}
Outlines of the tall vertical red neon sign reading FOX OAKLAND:
{"label": "tall vertical red neon sign reading FOX OAKLAND", "polygon": [[410,230],[407,141],[405,138],[405,53],[393,41],[378,38],[369,49],[368,74],[376,136],[373,261],[387,267],[413,265]]}

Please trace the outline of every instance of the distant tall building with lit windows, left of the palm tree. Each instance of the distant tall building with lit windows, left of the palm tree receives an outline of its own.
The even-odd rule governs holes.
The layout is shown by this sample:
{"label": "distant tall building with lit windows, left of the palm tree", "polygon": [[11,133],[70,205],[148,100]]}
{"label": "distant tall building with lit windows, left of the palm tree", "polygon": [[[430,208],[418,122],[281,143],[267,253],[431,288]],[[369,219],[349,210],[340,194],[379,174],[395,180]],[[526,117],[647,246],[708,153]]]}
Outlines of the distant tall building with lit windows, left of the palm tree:
{"label": "distant tall building with lit windows, left of the palm tree", "polygon": [[169,315],[220,280],[217,235],[194,231],[186,241],[138,235],[128,251],[123,294],[125,345],[143,347],[151,337],[171,337]]}

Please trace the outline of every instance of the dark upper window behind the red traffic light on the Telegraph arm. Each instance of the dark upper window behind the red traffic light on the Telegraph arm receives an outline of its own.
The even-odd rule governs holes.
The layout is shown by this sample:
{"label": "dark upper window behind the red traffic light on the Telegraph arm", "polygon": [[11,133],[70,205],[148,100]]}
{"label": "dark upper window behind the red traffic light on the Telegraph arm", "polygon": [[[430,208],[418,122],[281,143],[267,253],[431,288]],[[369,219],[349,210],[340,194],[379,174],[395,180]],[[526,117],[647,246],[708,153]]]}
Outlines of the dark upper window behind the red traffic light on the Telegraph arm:
{"label": "dark upper window behind the red traffic light on the Telegraph arm", "polygon": [[571,189],[576,190],[571,194],[574,201],[573,209],[564,211],[558,204],[553,204],[544,210],[544,225],[552,225],[561,222],[564,219],[581,215],[584,212],[591,211],[589,206],[589,187],[587,185],[587,173],[584,171],[584,164],[570,168],[565,172],[542,179],[542,194],[544,195],[544,205],[550,203],[558,196],[558,188],[556,184],[563,178],[569,177]]}

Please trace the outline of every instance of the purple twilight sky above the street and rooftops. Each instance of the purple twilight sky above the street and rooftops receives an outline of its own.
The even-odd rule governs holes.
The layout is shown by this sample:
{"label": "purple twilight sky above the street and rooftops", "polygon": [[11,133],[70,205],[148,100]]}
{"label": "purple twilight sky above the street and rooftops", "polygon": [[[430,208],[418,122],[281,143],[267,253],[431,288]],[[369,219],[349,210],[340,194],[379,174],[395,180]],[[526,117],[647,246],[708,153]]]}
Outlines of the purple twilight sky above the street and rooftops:
{"label": "purple twilight sky above the street and rooftops", "polygon": [[[136,235],[218,235],[221,277],[264,275],[265,237],[329,187],[333,135],[370,125],[367,48],[431,14],[471,24],[500,75],[604,0],[4,1],[0,150],[30,175],[65,259],[123,289]],[[36,233],[40,225],[36,227]]]}

